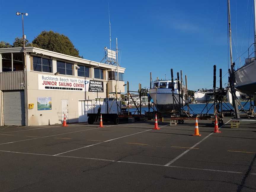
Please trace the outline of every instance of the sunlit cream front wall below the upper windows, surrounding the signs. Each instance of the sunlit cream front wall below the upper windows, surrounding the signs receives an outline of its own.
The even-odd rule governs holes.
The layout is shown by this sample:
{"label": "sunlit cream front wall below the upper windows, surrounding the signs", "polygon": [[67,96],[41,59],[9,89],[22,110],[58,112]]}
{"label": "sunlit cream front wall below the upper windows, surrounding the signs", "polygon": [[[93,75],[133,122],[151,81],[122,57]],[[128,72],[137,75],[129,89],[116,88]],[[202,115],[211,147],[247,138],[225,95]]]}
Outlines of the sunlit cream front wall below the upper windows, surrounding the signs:
{"label": "sunlit cream front wall below the upper windows, surrounding the signs", "polygon": [[[38,72],[28,72],[28,104],[33,103],[34,108],[28,109],[28,125],[47,125],[60,124],[62,122],[61,100],[68,100],[68,120],[69,123],[78,122],[78,105],[79,100],[93,100],[95,98],[106,98],[106,84],[103,81],[104,92],[84,92],[68,90],[39,90],[38,89]],[[60,77],[60,75],[58,75]],[[63,76],[65,77],[65,76]],[[74,78],[74,77],[73,77]],[[75,77],[78,78],[78,77]],[[84,79],[84,78],[78,78]],[[87,78],[88,79],[88,78]],[[37,110],[37,97],[51,97],[52,110]]]}

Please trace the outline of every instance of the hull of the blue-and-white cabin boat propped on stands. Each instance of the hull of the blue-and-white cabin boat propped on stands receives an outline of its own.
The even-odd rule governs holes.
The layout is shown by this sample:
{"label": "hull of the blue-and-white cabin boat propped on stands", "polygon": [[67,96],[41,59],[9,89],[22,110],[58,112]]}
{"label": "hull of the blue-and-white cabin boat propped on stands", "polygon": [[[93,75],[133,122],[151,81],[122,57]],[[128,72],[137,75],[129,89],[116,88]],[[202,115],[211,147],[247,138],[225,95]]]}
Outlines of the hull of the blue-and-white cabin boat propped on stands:
{"label": "hull of the blue-and-white cabin boat propped on stands", "polygon": [[[172,97],[172,89],[150,89],[149,95],[153,99],[153,102],[159,112],[172,112],[173,109],[177,111],[179,108],[182,107],[182,98],[180,97],[179,105],[179,95],[177,91],[174,91],[174,101]],[[177,104],[176,104],[176,103]],[[183,96],[183,105],[185,105],[185,97]]]}

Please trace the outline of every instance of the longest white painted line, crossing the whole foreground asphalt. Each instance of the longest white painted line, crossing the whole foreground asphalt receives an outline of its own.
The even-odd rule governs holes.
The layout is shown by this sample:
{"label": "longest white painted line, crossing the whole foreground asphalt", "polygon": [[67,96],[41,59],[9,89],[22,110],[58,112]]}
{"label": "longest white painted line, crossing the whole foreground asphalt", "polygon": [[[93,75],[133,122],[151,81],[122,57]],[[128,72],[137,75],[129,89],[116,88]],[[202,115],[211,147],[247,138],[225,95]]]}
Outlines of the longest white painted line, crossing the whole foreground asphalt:
{"label": "longest white painted line, crossing the whole foreground asphalt", "polygon": [[[132,162],[132,161],[116,161],[116,160],[111,160],[111,159],[98,159],[98,158],[89,158],[89,157],[76,157],[76,156],[63,156],[63,155],[55,156],[55,155],[41,154],[41,153],[25,153],[25,152],[4,151],[4,150],[0,150],[0,152],[28,154],[28,155],[52,156],[52,157],[76,158],[76,159],[89,159],[89,160],[96,160],[96,161],[109,161],[109,162],[116,162],[116,163],[139,164],[139,165],[166,167],[166,168],[168,167],[168,168],[192,169],[192,170],[199,170],[199,171],[212,171],[212,172],[244,174],[244,172],[236,172],[236,171],[228,171],[228,170],[202,169],[202,168],[181,167],[181,166],[173,166],[173,165],[165,166],[165,165],[161,165],[161,164],[141,163],[141,162]],[[249,173],[249,175],[256,175],[256,173]]]}

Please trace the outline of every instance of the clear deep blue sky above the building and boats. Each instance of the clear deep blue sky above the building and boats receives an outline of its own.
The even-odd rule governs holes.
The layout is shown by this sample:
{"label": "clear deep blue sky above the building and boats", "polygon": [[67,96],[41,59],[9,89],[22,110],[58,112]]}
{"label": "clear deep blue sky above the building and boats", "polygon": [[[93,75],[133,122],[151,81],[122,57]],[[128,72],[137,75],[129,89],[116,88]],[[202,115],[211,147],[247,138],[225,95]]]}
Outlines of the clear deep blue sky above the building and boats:
{"label": "clear deep blue sky above the building and boats", "polygon": [[[0,0],[0,41],[12,43],[22,36],[21,18],[15,13],[28,12],[24,28],[29,41],[43,30],[53,30],[68,36],[85,59],[100,61],[103,48],[109,47],[108,2],[112,47],[117,37],[130,89],[137,90],[138,83],[149,87],[150,72],[153,79],[164,79],[165,74],[170,78],[171,68],[175,76],[183,70],[191,90],[212,88],[213,65],[217,65],[217,76],[219,68],[223,75],[228,71],[225,0]],[[254,41],[252,5],[252,0],[231,0],[234,60],[246,51],[248,40],[249,45]],[[227,81],[226,75],[223,84]]]}

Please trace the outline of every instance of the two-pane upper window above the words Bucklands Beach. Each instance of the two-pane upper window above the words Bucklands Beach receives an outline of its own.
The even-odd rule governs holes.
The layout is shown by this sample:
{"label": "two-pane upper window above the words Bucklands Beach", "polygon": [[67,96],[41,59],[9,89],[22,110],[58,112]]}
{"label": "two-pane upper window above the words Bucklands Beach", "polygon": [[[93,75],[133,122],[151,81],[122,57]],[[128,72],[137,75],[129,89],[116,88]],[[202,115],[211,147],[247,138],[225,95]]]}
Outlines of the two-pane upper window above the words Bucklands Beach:
{"label": "two-pane upper window above the words Bucklands Beach", "polygon": [[33,57],[33,70],[52,73],[52,60],[42,57]]}

